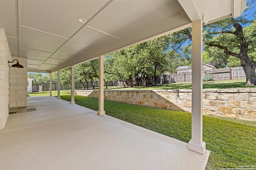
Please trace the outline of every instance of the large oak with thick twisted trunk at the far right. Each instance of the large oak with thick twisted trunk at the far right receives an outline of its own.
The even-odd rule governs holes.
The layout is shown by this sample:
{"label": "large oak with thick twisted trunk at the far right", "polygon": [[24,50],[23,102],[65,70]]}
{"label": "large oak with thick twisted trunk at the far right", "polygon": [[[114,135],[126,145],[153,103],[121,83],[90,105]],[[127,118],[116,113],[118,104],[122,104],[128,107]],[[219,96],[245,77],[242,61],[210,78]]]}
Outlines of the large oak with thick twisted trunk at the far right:
{"label": "large oak with thick twisted trunk at the far right", "polygon": [[[252,0],[251,4],[253,3],[254,0]],[[251,4],[247,4],[246,10],[253,7]],[[252,15],[254,16],[254,14]],[[248,52],[250,49],[255,48],[255,41],[251,41],[247,37],[255,36],[255,31],[248,31],[242,27],[242,25],[248,23],[252,25],[248,27],[248,30],[255,29],[255,21],[246,19],[246,15],[238,18],[230,17],[205,25],[203,43],[205,45],[205,51],[208,51],[212,47],[217,47],[223,53],[238,58],[246,74],[246,85],[254,86],[256,85],[255,57],[248,55]],[[173,33],[171,39],[174,49],[178,49],[188,41],[191,42],[191,28]],[[187,39],[189,40],[187,41]]]}

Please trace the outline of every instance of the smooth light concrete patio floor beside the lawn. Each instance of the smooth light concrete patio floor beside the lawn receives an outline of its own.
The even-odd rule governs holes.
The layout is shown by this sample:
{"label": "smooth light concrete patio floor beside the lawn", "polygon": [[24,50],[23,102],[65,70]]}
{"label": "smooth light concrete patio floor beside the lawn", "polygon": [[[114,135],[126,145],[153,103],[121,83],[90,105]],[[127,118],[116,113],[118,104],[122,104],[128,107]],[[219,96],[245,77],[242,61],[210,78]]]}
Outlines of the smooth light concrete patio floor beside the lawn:
{"label": "smooth light concrete patio floor beside the lawn", "polygon": [[11,114],[0,129],[3,170],[203,170],[210,154],[52,96],[28,106],[37,111]]}

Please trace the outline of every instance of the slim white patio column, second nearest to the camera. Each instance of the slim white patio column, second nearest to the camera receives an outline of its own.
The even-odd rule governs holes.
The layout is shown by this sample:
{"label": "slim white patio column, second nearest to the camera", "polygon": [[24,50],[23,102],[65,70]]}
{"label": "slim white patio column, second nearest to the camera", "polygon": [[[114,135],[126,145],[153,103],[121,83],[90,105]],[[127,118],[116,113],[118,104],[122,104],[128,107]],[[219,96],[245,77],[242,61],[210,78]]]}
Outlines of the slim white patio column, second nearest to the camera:
{"label": "slim white patio column, second nearest to the camera", "polygon": [[104,56],[99,57],[99,110],[98,115],[104,115]]}

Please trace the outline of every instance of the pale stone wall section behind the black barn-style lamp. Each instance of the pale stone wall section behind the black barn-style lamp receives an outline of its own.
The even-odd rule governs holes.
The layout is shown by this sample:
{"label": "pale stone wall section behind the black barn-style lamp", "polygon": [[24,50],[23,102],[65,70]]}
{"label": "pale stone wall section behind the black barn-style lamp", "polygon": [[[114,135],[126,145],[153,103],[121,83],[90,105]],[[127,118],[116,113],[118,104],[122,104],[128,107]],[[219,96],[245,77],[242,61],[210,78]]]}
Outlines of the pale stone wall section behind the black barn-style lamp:
{"label": "pale stone wall section behind the black barn-style lamp", "polygon": [[[9,108],[26,107],[28,100],[28,59],[12,56],[11,61],[17,59],[24,68],[10,67],[9,72]],[[11,64],[16,64],[16,61]]]}

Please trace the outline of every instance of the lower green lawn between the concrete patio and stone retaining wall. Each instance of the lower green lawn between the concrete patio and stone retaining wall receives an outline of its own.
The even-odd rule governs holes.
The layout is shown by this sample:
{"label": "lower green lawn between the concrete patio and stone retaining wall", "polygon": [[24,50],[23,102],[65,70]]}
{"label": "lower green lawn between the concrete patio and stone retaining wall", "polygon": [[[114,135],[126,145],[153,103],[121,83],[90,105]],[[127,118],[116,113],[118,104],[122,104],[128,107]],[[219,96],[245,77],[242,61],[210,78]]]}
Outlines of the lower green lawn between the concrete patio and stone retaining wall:
{"label": "lower green lawn between the concrete patio and stone retaining wall", "polygon": [[[55,92],[52,94],[57,96]],[[61,98],[70,101],[69,91],[61,91]],[[75,96],[75,102],[80,106],[98,110],[97,98]],[[186,143],[191,139],[191,113],[110,100],[104,100],[104,106],[106,114],[112,117]],[[256,122],[204,115],[203,141],[206,142],[206,149],[211,151],[206,170],[239,168],[239,165],[256,163]]]}

